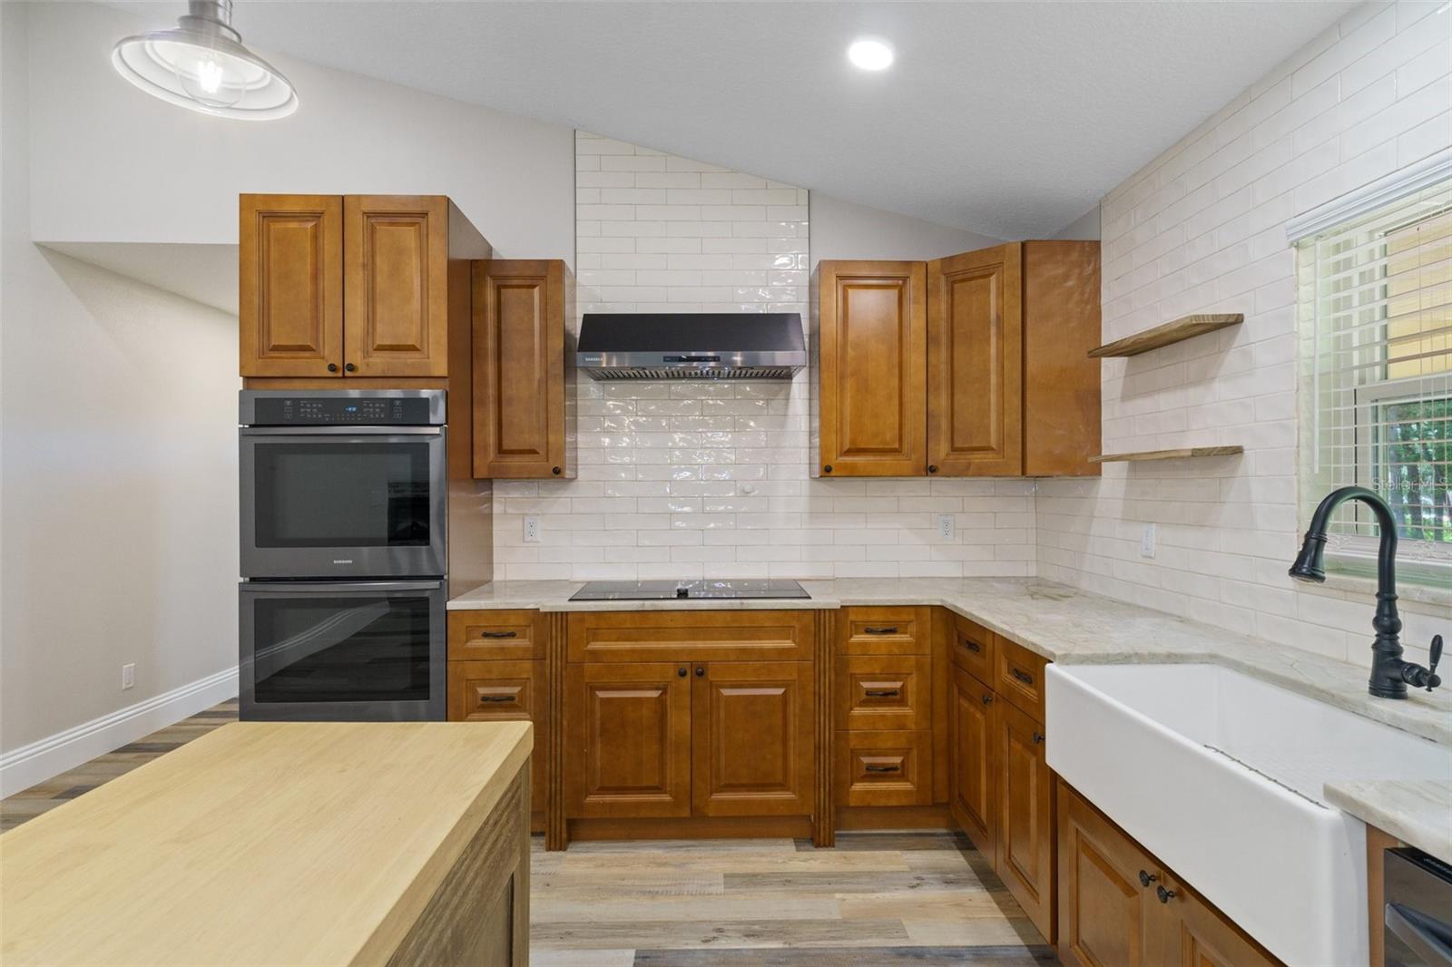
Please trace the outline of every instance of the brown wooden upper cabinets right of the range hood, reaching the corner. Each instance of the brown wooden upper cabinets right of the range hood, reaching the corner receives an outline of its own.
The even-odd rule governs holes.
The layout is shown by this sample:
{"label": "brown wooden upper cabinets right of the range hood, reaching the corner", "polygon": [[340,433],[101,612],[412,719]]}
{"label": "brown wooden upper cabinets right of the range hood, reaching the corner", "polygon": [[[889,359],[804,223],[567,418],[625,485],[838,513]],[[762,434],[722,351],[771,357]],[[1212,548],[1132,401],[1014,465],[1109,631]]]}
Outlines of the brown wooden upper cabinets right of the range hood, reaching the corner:
{"label": "brown wooden upper cabinets right of the range hood, reaching the corner", "polygon": [[1096,475],[1099,242],[817,266],[822,476]]}

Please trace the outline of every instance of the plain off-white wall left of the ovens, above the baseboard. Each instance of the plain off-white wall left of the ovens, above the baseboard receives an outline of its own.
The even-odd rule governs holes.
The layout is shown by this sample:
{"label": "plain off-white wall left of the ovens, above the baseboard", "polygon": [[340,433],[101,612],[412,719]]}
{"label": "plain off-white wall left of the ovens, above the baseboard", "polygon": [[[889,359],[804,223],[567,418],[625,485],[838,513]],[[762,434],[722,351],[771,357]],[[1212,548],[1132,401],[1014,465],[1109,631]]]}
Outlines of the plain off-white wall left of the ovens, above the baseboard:
{"label": "plain off-white wall left of the ovens, above the baseboard", "polygon": [[[25,44],[33,13],[0,4],[6,754],[237,664],[237,443],[228,430],[237,322],[30,242]],[[136,665],[129,691],[121,690],[125,662]],[[206,704],[234,688],[224,682],[219,695],[190,700]],[[192,710],[183,701],[168,711]],[[83,742],[71,751],[83,761],[103,749]]]}

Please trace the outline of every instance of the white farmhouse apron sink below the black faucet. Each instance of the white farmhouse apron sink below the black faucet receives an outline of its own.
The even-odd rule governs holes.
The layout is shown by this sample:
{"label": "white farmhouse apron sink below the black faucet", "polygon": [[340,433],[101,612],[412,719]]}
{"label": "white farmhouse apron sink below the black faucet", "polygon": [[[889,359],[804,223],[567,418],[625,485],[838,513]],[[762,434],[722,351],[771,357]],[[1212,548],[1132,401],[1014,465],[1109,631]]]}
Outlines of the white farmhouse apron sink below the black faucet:
{"label": "white farmhouse apron sink below the black faucet", "polygon": [[1365,964],[1352,778],[1446,778],[1452,748],[1218,665],[1048,666],[1048,765],[1288,964]]}

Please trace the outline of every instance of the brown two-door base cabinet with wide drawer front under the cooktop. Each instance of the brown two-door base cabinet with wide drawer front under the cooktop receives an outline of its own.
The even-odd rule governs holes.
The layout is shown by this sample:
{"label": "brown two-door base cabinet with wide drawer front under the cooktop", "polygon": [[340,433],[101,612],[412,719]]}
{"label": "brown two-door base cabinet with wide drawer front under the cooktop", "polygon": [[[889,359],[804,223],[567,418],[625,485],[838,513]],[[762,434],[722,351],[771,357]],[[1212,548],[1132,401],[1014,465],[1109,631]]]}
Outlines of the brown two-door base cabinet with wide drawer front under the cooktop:
{"label": "brown two-door base cabinet with wide drawer front under the cooktop", "polygon": [[565,620],[569,838],[812,835],[812,611]]}

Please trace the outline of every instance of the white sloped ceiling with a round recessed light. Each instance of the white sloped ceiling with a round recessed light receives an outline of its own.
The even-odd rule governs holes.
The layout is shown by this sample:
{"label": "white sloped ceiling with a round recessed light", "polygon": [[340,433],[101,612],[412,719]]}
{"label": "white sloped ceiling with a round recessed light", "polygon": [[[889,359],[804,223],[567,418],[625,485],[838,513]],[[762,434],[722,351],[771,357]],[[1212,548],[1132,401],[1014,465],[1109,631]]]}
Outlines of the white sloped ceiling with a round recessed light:
{"label": "white sloped ceiling with a round recessed light", "polygon": [[[1353,6],[242,0],[234,25],[264,54],[1022,238],[1076,219]],[[862,33],[896,46],[893,68],[847,62]]]}

